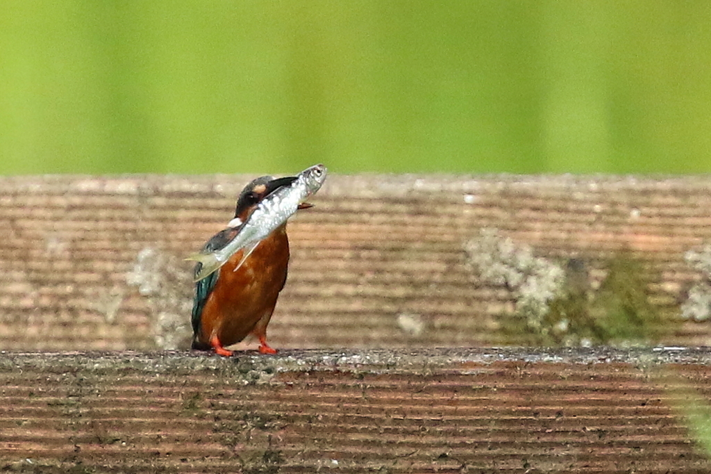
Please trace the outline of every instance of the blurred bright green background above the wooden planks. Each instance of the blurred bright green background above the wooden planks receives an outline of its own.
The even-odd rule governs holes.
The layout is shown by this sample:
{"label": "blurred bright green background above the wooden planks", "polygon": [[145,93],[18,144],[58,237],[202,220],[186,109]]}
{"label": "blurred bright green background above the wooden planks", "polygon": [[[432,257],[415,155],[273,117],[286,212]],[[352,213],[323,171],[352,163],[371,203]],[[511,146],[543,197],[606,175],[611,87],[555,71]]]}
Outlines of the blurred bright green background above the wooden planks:
{"label": "blurred bright green background above the wooden planks", "polygon": [[0,6],[0,174],[711,171],[709,2]]}

